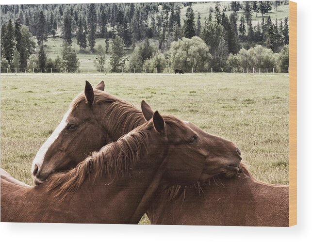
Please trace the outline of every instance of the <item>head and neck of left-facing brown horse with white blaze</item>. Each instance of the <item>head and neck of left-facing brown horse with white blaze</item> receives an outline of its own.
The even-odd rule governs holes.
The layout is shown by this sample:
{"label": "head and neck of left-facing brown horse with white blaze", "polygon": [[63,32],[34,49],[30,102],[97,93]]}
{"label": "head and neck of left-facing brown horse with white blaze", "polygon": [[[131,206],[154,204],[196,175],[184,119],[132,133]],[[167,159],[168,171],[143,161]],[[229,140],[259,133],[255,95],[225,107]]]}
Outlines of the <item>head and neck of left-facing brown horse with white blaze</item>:
{"label": "head and neck of left-facing brown horse with white blaze", "polygon": [[61,123],[33,160],[35,184],[44,182],[50,174],[75,167],[90,152],[146,122],[141,111],[103,92],[104,87],[101,81],[93,90],[86,81],[84,93],[74,98]]}

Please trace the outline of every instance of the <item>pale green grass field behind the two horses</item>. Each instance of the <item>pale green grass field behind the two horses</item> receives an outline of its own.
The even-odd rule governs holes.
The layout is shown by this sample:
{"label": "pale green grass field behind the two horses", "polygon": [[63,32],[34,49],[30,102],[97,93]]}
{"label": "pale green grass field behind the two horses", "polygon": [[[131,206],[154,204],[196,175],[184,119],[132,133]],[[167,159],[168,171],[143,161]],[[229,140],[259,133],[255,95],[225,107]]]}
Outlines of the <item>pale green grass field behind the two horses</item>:
{"label": "pale green grass field behind the two horses", "polygon": [[[252,174],[288,184],[288,75],[1,74],[1,168],[33,184],[33,158],[84,80],[139,107],[191,121],[233,141]],[[143,223],[148,223],[145,218]]]}

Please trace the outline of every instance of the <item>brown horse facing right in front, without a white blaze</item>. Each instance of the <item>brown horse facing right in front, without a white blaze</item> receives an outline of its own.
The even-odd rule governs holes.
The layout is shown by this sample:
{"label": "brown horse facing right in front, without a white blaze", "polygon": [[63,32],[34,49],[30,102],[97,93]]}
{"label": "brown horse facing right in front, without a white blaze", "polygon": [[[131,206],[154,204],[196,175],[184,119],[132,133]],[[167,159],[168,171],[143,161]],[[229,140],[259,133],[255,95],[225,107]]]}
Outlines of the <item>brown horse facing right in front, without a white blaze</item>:
{"label": "brown horse facing right in front, without a white blaze", "polygon": [[[99,100],[88,95],[73,107],[96,110]],[[164,186],[238,171],[237,147],[228,142],[220,159],[212,156],[209,138],[155,112],[152,120],[46,183],[27,187],[1,176],[1,221],[136,224]]]}

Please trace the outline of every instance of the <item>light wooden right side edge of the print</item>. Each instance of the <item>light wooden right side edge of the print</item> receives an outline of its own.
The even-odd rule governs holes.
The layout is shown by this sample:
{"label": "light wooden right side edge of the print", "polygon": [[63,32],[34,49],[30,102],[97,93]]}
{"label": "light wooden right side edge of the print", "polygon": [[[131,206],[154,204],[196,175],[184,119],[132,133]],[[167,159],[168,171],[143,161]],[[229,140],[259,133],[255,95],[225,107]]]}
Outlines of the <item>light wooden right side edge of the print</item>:
{"label": "light wooden right side edge of the print", "polygon": [[289,1],[289,226],[297,224],[297,3]]}

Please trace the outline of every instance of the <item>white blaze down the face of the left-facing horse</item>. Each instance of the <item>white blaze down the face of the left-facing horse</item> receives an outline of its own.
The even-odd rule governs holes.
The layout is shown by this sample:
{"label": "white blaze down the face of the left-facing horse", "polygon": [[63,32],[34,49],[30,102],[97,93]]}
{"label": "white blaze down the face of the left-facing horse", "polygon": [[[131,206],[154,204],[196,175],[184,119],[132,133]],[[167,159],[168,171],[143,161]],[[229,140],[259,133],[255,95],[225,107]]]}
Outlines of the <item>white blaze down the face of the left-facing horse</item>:
{"label": "white blaze down the face of the left-facing horse", "polygon": [[69,113],[71,112],[71,109],[69,109],[67,111],[67,113],[65,113],[61,123],[58,125],[58,127],[56,127],[56,129],[53,131],[53,133],[51,134],[51,136],[49,137],[49,139],[41,146],[41,148],[39,149],[39,151],[37,152],[34,160],[33,160],[33,165],[32,165],[32,174],[33,174],[33,169],[34,169],[34,165],[36,164],[40,170],[42,162],[45,158],[45,155],[49,149],[49,147],[54,143],[54,141],[57,139],[57,137],[59,136],[59,134],[61,133],[61,131],[63,129],[65,129],[66,125],[67,125],[67,117],[69,115]]}

